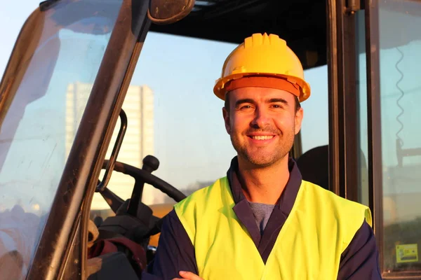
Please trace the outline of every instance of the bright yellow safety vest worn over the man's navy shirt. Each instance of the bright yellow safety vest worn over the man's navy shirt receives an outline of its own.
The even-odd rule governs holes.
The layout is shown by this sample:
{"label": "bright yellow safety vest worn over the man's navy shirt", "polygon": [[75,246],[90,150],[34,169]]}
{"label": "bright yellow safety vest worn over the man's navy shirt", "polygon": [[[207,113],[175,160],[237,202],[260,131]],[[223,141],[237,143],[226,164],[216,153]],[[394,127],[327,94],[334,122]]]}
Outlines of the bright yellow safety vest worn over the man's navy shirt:
{"label": "bright yellow safety vest worn over the man's navy shirt", "polygon": [[265,264],[234,204],[224,177],[175,205],[205,280],[337,279],[342,252],[364,218],[372,223],[368,207],[302,181]]}

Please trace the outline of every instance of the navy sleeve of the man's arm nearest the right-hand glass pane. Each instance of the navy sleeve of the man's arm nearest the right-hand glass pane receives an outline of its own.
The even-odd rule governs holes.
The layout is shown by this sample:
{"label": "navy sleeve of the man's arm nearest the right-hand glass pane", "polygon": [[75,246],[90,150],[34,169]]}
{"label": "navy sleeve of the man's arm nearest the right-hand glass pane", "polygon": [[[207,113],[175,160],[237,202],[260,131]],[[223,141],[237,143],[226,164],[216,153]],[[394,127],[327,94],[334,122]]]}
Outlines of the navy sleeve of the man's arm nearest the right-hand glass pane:
{"label": "navy sleeve of the man's arm nearest the right-hand glass pane", "polygon": [[379,252],[374,232],[364,221],[348,248],[342,253],[339,265],[339,280],[382,279],[379,268]]}

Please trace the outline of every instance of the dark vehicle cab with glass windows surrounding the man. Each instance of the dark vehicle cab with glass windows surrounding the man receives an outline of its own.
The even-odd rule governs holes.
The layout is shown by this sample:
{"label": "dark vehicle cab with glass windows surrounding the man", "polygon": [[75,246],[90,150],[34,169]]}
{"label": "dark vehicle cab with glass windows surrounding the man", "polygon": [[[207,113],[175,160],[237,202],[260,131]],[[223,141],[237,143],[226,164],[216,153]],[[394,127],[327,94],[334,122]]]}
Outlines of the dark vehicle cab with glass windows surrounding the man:
{"label": "dark vehicle cab with glass windows surrounding the man", "polygon": [[29,15],[0,83],[0,279],[140,279],[161,218],[235,155],[212,88],[255,32],[285,38],[312,86],[303,179],[370,207],[384,279],[421,279],[421,2],[234,2]]}

